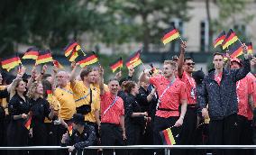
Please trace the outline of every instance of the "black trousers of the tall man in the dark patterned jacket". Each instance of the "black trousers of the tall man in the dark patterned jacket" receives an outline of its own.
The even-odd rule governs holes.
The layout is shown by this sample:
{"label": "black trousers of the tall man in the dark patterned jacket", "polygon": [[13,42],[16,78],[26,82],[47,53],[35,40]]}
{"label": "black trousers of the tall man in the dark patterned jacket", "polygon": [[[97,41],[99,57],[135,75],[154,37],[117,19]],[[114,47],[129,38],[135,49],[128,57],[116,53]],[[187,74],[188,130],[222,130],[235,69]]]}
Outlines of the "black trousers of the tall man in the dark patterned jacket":
{"label": "black trousers of the tall man in the dark patterned jacket", "polygon": [[[209,123],[210,145],[237,145],[238,118],[231,114],[223,120],[211,120]],[[236,155],[237,150],[212,150],[213,155]]]}

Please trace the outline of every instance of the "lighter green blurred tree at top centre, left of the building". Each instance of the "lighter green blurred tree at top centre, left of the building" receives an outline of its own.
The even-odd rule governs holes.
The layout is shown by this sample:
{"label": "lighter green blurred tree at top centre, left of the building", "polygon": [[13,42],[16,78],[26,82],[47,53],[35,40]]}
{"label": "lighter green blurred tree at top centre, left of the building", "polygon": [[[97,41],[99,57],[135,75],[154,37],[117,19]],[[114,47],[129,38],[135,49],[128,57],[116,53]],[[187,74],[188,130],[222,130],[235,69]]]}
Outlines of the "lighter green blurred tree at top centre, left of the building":
{"label": "lighter green blurred tree at top centre, left of the building", "polygon": [[[187,21],[188,0],[112,0],[105,1],[112,14],[110,31],[105,31],[109,42],[142,41],[144,51],[149,45],[160,44],[164,30],[170,27],[173,18]],[[114,38],[109,37],[113,36]]]}

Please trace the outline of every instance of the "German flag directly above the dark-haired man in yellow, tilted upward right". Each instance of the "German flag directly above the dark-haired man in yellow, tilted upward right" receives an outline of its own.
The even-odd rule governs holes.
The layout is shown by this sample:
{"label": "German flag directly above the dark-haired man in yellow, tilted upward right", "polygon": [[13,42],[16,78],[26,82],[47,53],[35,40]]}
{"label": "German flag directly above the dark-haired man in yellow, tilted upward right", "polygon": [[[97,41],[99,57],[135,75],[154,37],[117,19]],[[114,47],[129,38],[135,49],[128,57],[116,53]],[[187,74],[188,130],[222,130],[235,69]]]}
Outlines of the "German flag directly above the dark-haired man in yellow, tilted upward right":
{"label": "German flag directly above the dark-haired man in yellow, tilted upward right", "polygon": [[78,58],[78,64],[81,68],[84,68],[88,65],[94,64],[98,61],[96,53],[92,51],[92,53],[87,54],[87,56],[83,56]]}

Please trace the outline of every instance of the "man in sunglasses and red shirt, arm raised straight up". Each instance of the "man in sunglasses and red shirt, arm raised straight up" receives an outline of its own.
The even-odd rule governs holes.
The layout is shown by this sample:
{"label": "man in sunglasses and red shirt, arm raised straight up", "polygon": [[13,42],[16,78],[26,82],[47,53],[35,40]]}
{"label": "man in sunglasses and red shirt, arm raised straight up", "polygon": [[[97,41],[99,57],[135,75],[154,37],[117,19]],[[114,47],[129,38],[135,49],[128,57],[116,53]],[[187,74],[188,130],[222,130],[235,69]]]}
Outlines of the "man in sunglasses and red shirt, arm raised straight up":
{"label": "man in sunglasses and red shirt, arm raised straight up", "polygon": [[[180,144],[195,144],[195,134],[197,128],[197,98],[196,98],[196,81],[192,78],[195,62],[191,58],[185,58],[186,42],[181,43],[180,55],[178,59],[178,78],[186,84],[187,89],[187,113],[180,133]],[[193,150],[184,150],[184,155],[192,154]]]}

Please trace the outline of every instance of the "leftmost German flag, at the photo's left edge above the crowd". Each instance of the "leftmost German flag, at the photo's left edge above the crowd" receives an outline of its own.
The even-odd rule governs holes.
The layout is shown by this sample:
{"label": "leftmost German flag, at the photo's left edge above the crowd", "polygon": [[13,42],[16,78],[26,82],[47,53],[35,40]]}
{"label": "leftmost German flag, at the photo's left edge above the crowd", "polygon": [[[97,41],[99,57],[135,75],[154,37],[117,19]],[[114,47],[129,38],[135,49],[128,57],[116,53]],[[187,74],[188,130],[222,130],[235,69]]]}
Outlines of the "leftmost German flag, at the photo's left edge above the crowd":
{"label": "leftmost German flag, at the photo's left edge above the crowd", "polygon": [[13,56],[13,57],[2,59],[1,64],[2,64],[2,68],[5,68],[7,71],[10,71],[12,68],[15,68],[20,64],[22,64],[22,61],[20,57]]}

